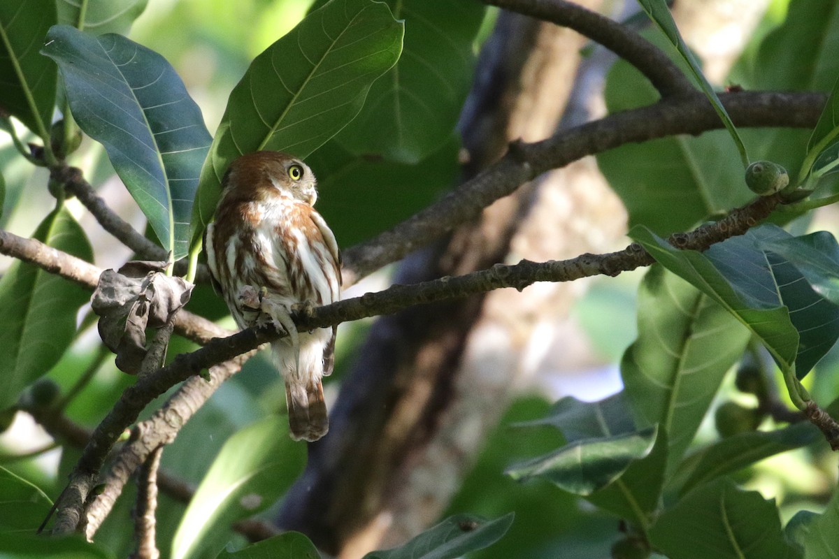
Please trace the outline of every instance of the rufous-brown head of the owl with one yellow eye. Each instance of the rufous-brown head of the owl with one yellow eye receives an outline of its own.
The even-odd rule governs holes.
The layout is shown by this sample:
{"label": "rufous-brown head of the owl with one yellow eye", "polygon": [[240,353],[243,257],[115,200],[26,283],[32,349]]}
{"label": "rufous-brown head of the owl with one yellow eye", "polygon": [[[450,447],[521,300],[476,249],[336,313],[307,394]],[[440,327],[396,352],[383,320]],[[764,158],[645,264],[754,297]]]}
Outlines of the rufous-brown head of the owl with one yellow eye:
{"label": "rufous-brown head of the owl with one yellow eye", "polygon": [[308,165],[282,152],[254,152],[230,164],[222,181],[224,195],[267,199],[290,196],[315,205],[317,180]]}

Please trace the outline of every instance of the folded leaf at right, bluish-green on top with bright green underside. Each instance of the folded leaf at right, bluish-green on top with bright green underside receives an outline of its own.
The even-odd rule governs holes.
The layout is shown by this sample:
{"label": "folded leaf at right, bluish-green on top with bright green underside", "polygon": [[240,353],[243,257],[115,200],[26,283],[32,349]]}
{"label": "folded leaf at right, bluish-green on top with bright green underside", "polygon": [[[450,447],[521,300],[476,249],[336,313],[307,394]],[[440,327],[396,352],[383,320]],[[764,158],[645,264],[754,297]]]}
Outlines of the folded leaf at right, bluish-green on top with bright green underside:
{"label": "folded leaf at right, bluish-green on top with bright green underside", "polygon": [[630,235],[757,334],[782,369],[795,364],[799,378],[839,337],[839,308],[819,297],[789,261],[763,248],[789,238],[778,227],[749,230],[704,253],[679,251],[641,227]]}

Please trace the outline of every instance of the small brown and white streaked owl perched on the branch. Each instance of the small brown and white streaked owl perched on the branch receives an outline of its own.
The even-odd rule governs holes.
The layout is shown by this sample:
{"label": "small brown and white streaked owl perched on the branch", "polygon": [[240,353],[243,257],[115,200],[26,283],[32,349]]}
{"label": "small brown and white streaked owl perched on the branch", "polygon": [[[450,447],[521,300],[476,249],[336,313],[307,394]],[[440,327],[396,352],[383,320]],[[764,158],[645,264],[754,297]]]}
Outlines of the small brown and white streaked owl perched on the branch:
{"label": "small brown and white streaked owl perched on the branch", "polygon": [[336,327],[300,332],[290,313],[338,300],[335,236],[314,209],[315,175],[287,153],[256,152],[230,164],[204,247],[213,284],[239,328],[273,322],[289,335],[271,349],[285,380],[289,432],[316,441],[329,429],[321,378],[332,372]]}

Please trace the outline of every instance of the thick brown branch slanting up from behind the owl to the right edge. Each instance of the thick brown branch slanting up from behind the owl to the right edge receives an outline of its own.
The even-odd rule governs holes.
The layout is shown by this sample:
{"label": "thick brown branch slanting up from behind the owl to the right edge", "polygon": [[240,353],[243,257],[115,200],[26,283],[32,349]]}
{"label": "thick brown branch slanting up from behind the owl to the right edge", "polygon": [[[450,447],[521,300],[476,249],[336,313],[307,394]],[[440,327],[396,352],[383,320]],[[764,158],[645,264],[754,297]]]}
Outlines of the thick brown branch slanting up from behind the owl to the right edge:
{"label": "thick brown branch slanting up from behind the owl to the right edge", "polygon": [[[738,92],[720,98],[739,127],[814,127],[826,96],[818,93]],[[552,168],[618,148],[678,134],[722,128],[705,96],[667,99],[559,132],[542,142],[514,143],[498,163],[370,241],[344,251],[345,285],[428,245],[484,208]]]}

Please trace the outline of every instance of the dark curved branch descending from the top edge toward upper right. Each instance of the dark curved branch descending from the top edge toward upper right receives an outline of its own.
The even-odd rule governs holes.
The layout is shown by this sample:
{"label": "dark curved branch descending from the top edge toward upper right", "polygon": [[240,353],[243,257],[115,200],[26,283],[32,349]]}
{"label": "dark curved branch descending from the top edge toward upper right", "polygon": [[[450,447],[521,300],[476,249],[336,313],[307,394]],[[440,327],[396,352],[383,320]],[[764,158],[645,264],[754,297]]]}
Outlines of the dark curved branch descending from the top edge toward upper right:
{"label": "dark curved branch descending from the top edge toward upper right", "polygon": [[564,0],[484,0],[484,3],[574,29],[635,66],[662,97],[696,91],[678,66],[647,39],[579,4]]}

